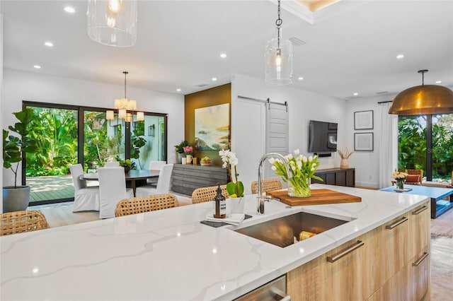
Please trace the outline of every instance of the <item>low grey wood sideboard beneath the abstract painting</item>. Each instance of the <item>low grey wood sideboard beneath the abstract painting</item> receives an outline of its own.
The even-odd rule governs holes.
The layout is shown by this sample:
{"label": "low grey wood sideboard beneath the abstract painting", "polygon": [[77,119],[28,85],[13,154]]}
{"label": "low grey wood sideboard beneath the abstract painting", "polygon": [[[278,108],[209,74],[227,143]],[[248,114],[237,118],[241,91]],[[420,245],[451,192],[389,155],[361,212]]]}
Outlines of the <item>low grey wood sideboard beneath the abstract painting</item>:
{"label": "low grey wood sideboard beneath the abstract painting", "polygon": [[228,170],[220,166],[175,164],[171,174],[171,190],[192,195],[200,187],[210,187],[229,182]]}

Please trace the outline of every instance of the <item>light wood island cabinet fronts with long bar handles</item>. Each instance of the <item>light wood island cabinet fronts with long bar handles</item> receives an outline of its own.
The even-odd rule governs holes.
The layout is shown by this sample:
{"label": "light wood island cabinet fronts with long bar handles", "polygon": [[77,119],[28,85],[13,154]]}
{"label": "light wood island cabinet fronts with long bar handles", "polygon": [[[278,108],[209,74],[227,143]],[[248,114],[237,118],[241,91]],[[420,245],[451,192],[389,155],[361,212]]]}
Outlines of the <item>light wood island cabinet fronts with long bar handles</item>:
{"label": "light wood island cabinet fronts with long bar handles", "polygon": [[292,300],[429,300],[429,202],[287,273]]}

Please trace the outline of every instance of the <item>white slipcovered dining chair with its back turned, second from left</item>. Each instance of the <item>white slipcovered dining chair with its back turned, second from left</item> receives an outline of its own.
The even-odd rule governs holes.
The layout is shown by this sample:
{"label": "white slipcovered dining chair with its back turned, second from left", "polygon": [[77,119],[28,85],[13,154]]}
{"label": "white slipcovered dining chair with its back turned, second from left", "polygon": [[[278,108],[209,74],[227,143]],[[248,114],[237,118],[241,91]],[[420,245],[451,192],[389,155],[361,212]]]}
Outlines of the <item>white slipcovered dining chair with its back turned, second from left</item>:
{"label": "white slipcovered dining chair with its back turned, second from left", "polygon": [[99,218],[114,218],[116,204],[122,199],[132,198],[134,192],[132,188],[126,188],[123,167],[99,167],[98,175],[101,196]]}

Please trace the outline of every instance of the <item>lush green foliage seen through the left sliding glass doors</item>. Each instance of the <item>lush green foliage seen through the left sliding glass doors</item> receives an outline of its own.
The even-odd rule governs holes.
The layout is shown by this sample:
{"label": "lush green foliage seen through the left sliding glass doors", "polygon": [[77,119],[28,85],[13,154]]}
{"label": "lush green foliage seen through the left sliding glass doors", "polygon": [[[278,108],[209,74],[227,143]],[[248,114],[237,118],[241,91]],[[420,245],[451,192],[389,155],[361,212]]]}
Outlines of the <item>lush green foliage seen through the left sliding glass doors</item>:
{"label": "lush green foliage seen through the left sliding glass doors", "polygon": [[[68,175],[69,165],[77,163],[77,111],[33,107],[30,112],[33,112],[33,119],[28,136],[36,140],[37,150],[27,153],[26,176]],[[107,160],[124,158],[122,129],[119,124],[115,126],[114,134],[108,136],[105,112],[85,112],[85,169],[104,166]],[[131,158],[139,160],[140,148],[147,142],[143,133],[144,122],[139,122],[131,133]]]}

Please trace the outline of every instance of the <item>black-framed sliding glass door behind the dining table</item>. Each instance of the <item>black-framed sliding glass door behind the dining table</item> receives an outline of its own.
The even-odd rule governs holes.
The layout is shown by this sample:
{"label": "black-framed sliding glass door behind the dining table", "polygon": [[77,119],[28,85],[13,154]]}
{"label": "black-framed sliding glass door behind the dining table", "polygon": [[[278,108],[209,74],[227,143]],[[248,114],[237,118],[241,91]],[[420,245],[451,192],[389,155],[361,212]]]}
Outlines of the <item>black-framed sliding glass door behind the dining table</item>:
{"label": "black-framed sliding glass door behind the dining table", "polygon": [[69,165],[96,172],[106,161],[130,158],[136,169],[166,160],[166,114],[145,112],[144,122],[106,120],[105,108],[23,102],[35,118],[30,137],[38,152],[25,155],[22,183],[31,187],[30,205],[74,200]]}

